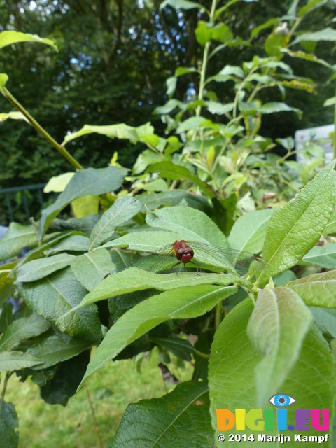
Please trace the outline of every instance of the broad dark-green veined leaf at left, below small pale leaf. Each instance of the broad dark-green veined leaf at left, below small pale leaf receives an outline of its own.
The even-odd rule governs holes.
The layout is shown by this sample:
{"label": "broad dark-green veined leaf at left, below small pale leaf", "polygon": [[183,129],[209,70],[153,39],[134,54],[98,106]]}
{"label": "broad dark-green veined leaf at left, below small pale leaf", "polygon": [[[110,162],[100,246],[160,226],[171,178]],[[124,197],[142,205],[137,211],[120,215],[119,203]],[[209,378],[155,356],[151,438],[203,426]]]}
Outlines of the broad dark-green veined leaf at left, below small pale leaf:
{"label": "broad dark-green veined leaf at left, below small pale leaf", "polygon": [[95,305],[76,310],[71,316],[64,318],[64,314],[76,307],[86,294],[86,289],[77,281],[71,267],[34,283],[20,283],[19,290],[36,314],[52,324],[57,321],[62,332],[94,342],[100,341],[102,330]]}

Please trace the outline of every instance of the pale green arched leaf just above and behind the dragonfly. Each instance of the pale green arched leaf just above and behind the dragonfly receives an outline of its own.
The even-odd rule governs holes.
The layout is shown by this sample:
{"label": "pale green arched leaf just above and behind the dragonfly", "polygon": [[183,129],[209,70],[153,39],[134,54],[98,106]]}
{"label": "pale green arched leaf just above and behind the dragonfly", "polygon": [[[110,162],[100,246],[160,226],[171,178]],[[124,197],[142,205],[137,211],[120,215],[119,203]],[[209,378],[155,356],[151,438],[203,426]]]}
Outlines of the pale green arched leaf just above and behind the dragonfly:
{"label": "pale green arched leaf just above and behind the dragonfly", "polygon": [[214,221],[202,211],[190,207],[165,207],[156,212],[150,211],[146,216],[146,223],[152,227],[178,232],[184,239],[229,247],[228,240]]}

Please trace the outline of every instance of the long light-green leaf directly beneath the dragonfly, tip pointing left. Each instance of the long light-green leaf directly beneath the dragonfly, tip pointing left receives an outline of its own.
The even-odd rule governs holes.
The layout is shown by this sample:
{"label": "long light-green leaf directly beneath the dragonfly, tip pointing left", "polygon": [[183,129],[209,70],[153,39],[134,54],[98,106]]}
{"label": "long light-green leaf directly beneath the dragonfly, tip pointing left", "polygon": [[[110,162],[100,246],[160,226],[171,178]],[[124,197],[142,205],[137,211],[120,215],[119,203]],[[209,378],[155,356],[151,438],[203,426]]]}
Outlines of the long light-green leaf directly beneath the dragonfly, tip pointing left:
{"label": "long light-green leaf directly beneath the dragonfly, tip pointing left", "polygon": [[200,274],[191,272],[180,272],[179,275],[174,274],[154,274],[136,267],[127,269],[118,274],[113,274],[92,290],[91,293],[85,295],[79,307],[86,304],[98,302],[99,300],[116,297],[118,295],[132,293],[133,291],[146,290],[155,288],[157,290],[172,290],[190,285],[207,285],[216,284],[228,286],[235,281],[239,281],[236,276],[230,274]]}

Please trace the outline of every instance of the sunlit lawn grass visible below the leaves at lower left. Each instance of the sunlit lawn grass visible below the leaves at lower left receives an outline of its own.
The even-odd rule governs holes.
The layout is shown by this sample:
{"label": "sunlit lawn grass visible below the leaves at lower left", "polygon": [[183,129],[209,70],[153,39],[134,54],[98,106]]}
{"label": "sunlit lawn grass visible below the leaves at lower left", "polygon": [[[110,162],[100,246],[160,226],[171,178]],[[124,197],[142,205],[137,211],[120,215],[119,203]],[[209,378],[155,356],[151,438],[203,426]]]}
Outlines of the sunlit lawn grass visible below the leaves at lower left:
{"label": "sunlit lawn grass visible below the leaves at lower left", "polygon": [[[104,447],[109,447],[119,426],[123,412],[130,402],[158,398],[165,394],[158,368],[159,354],[155,349],[137,372],[134,360],[108,363],[87,382],[99,432]],[[169,369],[181,381],[191,377],[191,366],[186,370]],[[168,391],[173,385],[167,384]],[[99,442],[94,429],[85,388],[68,405],[48,405],[39,395],[39,388],[30,379],[20,383],[13,375],[8,381],[6,402],[13,402],[19,419],[19,448],[97,448]]]}

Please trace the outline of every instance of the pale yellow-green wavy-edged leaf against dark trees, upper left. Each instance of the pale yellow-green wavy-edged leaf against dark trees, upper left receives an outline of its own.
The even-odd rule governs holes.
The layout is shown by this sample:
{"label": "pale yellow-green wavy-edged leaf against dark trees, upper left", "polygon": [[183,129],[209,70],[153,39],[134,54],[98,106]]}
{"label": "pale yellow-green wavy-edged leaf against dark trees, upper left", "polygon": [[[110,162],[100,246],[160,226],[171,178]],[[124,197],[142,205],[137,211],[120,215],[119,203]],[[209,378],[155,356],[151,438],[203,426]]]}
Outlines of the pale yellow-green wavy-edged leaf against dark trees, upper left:
{"label": "pale yellow-green wavy-edged leaf against dark trees, upper left", "polygon": [[139,137],[144,135],[144,127],[146,127],[147,134],[153,134],[154,128],[151,126],[151,123],[146,123],[146,125],[141,125],[139,127],[128,126],[125,125],[125,123],[107,126],[85,125],[79,131],[66,135],[63,144],[66,144],[73,139],[77,139],[78,137],[82,137],[83,135],[92,133],[106,135],[109,139],[114,139],[114,137],[117,137],[117,139],[127,139],[130,140],[131,143],[136,144]]}

